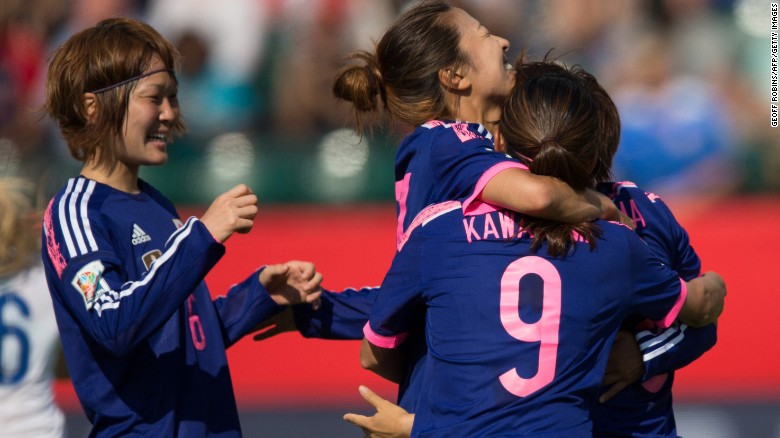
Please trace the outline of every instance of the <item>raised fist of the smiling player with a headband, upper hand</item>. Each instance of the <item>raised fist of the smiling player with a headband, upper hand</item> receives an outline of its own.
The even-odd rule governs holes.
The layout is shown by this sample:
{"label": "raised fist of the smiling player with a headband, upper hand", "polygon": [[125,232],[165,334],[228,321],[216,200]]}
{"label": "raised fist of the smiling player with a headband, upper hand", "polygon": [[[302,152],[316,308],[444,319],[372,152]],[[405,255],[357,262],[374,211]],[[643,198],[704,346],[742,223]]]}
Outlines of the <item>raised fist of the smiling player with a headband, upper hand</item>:
{"label": "raised fist of the smiling player with a headband, upper hand", "polygon": [[217,196],[200,218],[211,235],[224,243],[235,232],[248,233],[257,214],[257,196],[246,184],[239,184]]}

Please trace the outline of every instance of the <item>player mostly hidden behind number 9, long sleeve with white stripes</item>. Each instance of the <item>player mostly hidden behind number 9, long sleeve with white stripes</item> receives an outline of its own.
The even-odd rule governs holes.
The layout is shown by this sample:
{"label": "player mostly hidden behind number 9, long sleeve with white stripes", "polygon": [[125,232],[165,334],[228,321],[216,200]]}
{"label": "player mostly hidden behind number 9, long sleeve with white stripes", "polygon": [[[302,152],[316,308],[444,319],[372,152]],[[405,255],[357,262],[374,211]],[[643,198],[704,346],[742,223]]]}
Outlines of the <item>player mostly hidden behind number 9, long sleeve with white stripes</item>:
{"label": "player mostly hidden behind number 9, long sleeve with white stripes", "polygon": [[[620,141],[620,116],[606,90],[581,69],[566,71],[561,65],[551,62],[529,64],[518,67],[518,71],[526,78],[568,75],[590,90],[590,95],[601,108],[599,135],[602,139],[599,143],[602,152],[594,168],[598,190],[613,199],[618,208],[632,218],[637,234],[664,264],[685,280],[699,276],[701,261],[691,246],[688,233],[661,198],[630,182],[611,182],[612,158]],[[514,124],[510,120],[506,122]],[[626,331],[621,332],[619,337],[627,340],[618,343],[613,354],[617,355],[620,351],[633,353],[622,358],[633,357],[634,366],[630,365],[630,361],[628,364],[612,361],[617,366],[608,367],[605,383],[611,383],[612,374],[620,375],[624,370],[637,370],[638,374],[606,388],[602,397],[607,401],[597,405],[593,412],[594,436],[676,438],[672,409],[674,371],[712,348],[717,340],[717,328],[714,324],[692,328],[675,323],[658,333],[652,324],[636,318],[626,321],[624,327]],[[637,343],[641,350],[637,349]],[[626,348],[620,348],[620,345]],[[613,373],[613,370],[617,372]]]}

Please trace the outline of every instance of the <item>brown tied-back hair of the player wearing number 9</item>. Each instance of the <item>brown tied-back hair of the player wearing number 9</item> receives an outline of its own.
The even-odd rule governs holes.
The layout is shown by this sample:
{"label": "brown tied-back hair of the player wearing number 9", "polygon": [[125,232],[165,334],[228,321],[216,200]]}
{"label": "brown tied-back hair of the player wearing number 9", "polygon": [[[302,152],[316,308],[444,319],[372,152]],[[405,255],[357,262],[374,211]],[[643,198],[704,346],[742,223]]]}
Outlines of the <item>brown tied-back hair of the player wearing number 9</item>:
{"label": "brown tied-back hair of the player wearing number 9", "polygon": [[[524,160],[535,174],[556,177],[575,190],[593,187],[604,119],[592,87],[586,86],[592,76],[547,57],[526,63],[521,56],[515,67],[515,88],[499,123],[507,152]],[[532,248],[546,241],[553,256],[565,255],[579,238],[594,249],[600,235],[590,222],[563,224],[526,217],[524,228],[533,236]]]}

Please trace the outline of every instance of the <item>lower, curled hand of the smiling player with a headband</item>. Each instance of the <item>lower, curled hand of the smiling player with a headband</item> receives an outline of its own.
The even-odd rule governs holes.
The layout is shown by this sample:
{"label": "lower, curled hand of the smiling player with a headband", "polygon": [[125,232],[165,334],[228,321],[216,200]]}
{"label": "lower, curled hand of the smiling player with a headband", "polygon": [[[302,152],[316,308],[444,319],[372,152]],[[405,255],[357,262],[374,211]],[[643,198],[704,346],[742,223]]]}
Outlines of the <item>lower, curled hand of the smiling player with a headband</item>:
{"label": "lower, curled hand of the smiling player with a headband", "polygon": [[297,260],[268,265],[260,272],[260,283],[280,306],[308,303],[316,309],[322,295],[321,282],[322,274],[313,263]]}

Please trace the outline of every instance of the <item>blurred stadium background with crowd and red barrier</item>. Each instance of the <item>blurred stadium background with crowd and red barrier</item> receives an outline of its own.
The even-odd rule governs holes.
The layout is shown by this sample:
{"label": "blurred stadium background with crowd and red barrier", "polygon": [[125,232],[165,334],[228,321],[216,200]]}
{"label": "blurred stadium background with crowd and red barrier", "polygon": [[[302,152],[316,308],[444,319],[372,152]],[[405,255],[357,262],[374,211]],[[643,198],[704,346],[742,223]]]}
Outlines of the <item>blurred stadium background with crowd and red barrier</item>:
{"label": "blurred stadium background with crowd and red barrier", "polygon": [[[780,308],[780,130],[770,126],[767,0],[458,0],[510,55],[548,50],[605,85],[623,120],[617,179],[660,194],[729,297],[719,342],[676,379],[680,431],[780,437],[772,312]],[[358,138],[331,97],[344,55],[371,47],[405,0],[0,0],[0,174],[51,195],[78,173],[36,110],[48,53],[109,16],[142,18],[184,55],[180,101],[189,134],[142,176],[183,214],[249,184],[254,230],[228,242],[207,278],[221,293],[259,264],[308,259],[333,290],[376,285],[393,254],[393,155],[399,134]],[[247,436],[361,436],[341,420],[369,413],[357,342],[287,333],[229,351]],[[57,384],[73,436],[87,425]]]}

